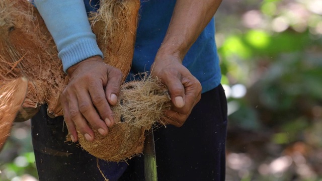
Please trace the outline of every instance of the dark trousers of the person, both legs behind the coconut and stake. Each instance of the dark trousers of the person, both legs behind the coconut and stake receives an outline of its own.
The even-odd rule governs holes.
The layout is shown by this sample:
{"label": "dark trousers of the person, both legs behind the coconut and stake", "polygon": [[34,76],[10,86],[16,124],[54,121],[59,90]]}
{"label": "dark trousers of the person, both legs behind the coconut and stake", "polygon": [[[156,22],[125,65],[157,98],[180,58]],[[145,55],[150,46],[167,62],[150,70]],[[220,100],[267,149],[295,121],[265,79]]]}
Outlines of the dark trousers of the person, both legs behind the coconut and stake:
{"label": "dark trousers of the person, both legs behind the coconut and stake", "polygon": [[[155,129],[158,180],[224,180],[226,129],[227,102],[219,85],[202,94],[181,128],[168,125]],[[67,132],[63,118],[48,118],[45,106],[32,119],[40,181],[104,180],[94,156],[65,142]],[[144,180],[142,155],[127,163],[98,163],[110,181]]]}

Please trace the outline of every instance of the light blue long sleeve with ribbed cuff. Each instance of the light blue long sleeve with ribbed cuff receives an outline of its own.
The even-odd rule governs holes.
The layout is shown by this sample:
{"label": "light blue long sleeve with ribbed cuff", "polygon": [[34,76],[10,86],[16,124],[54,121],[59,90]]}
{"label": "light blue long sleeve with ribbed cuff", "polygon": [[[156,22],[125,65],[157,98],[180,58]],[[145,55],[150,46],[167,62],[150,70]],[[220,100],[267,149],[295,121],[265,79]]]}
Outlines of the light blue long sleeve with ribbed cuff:
{"label": "light blue long sleeve with ribbed cuff", "polygon": [[83,0],[34,0],[34,4],[55,41],[64,72],[89,57],[103,58]]}

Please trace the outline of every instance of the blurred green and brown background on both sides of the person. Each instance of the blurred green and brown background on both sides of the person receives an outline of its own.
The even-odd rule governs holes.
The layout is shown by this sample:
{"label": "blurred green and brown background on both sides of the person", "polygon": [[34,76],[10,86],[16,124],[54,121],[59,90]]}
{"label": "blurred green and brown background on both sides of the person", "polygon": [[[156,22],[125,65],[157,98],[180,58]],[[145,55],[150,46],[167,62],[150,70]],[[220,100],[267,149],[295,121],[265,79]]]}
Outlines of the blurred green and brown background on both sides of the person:
{"label": "blurred green and brown background on both sides of the person", "polygon": [[[228,99],[226,180],[322,180],[322,0],[223,0],[216,43]],[[35,181],[30,122],[0,180]]]}

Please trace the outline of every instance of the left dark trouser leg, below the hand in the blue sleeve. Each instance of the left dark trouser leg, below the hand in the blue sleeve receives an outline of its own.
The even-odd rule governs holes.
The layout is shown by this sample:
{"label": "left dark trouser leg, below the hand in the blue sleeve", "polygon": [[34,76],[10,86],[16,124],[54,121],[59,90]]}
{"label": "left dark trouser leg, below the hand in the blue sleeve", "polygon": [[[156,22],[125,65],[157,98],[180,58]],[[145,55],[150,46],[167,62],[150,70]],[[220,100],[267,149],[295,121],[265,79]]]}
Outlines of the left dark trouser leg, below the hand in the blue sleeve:
{"label": "left dark trouser leg, below the hand in the blue sleeve", "polygon": [[[97,158],[77,143],[65,142],[68,133],[63,117],[48,118],[44,105],[32,118],[32,143],[40,181],[104,180],[97,167]],[[99,165],[110,181],[117,180],[127,167],[125,162]]]}

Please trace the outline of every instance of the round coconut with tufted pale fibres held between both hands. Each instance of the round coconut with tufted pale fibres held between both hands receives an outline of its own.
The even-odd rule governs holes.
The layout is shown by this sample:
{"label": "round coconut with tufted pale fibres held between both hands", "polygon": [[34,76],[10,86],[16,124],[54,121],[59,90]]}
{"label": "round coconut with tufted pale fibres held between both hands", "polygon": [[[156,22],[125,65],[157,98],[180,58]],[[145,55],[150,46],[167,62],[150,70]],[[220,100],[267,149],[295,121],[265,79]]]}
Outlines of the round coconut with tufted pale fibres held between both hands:
{"label": "round coconut with tufted pale fibres held between both hands", "polygon": [[107,161],[124,161],[142,153],[145,131],[162,119],[171,108],[170,96],[157,79],[145,76],[141,81],[121,85],[119,102],[112,107],[115,125],[107,136],[95,131],[96,139],[87,141],[78,133],[78,141],[92,155]]}

